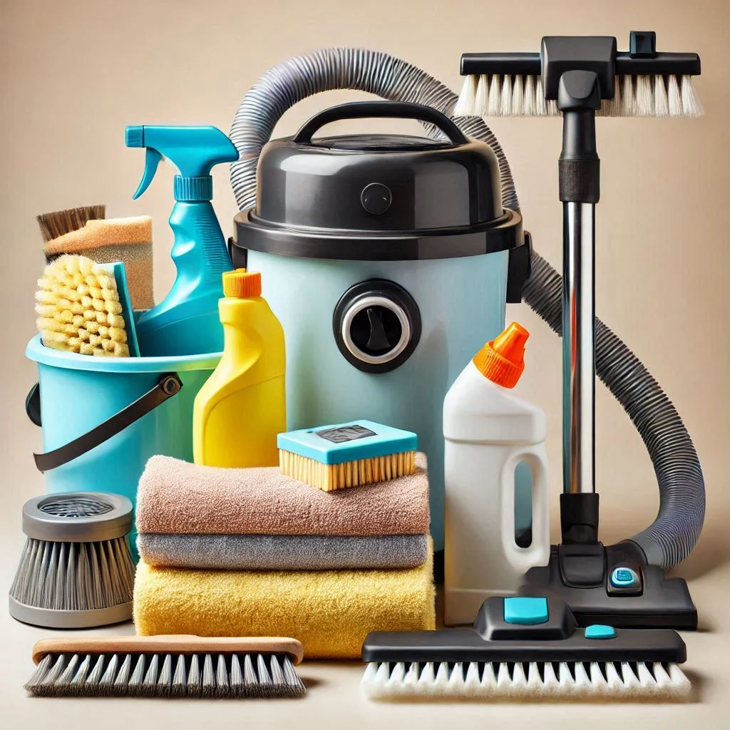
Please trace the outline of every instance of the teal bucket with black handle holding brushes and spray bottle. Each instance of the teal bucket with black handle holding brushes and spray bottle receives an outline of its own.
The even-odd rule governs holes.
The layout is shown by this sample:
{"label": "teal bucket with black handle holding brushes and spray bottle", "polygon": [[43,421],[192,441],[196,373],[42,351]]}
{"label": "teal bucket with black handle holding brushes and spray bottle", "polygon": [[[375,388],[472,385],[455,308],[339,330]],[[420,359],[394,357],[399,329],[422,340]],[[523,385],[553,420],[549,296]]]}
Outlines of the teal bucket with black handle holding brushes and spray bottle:
{"label": "teal bucket with black handle holding brushes and spray bottle", "polygon": [[47,491],[111,492],[136,504],[150,456],[193,461],[193,401],[220,353],[93,357],[52,350],[37,335],[26,357],[38,364],[26,410],[42,426],[44,453],[34,456]]}

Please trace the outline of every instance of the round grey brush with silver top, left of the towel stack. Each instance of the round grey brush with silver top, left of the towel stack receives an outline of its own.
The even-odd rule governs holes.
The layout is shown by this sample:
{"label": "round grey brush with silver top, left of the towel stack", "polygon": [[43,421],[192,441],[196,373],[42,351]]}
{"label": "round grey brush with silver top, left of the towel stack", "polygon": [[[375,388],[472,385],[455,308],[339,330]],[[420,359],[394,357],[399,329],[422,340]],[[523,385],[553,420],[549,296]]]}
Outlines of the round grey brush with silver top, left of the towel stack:
{"label": "round grey brush with silver top, left of the towel stack", "polygon": [[23,505],[28,539],[10,588],[10,615],[49,629],[88,629],[132,617],[132,503],[69,492]]}

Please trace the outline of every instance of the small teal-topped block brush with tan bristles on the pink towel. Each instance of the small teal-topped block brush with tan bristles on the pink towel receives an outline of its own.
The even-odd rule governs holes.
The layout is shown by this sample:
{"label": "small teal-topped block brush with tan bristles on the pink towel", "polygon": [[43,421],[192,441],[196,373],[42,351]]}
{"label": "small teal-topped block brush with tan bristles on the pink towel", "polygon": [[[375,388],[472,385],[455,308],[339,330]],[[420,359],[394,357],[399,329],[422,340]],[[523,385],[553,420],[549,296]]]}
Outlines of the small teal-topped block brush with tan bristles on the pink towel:
{"label": "small teal-topped block brush with tan bristles on the pink towel", "polygon": [[358,420],[279,434],[277,445],[283,474],[334,491],[413,474],[418,437]]}

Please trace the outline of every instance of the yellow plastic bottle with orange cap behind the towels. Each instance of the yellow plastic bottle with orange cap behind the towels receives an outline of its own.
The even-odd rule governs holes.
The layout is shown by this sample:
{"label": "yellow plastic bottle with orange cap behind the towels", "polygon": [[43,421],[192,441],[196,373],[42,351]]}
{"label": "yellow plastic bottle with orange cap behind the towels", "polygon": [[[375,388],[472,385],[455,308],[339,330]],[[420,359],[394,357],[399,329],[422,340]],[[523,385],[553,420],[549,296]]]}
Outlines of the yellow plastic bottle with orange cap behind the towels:
{"label": "yellow plastic bottle with orange cap behind the towels", "polygon": [[284,331],[261,274],[223,274],[223,357],[193,409],[193,457],[207,466],[277,466],[286,431]]}

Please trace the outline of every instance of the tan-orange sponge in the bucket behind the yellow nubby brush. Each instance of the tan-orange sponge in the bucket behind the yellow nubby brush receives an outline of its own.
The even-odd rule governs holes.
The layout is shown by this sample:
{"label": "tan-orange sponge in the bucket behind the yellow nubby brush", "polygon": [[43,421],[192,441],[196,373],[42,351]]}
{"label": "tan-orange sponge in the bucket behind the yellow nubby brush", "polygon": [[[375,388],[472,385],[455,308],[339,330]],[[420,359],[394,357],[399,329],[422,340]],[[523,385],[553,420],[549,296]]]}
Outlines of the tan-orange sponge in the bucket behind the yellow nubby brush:
{"label": "tan-orange sponge in the bucket behind the yellow nubby brush", "polygon": [[152,218],[93,218],[83,228],[47,242],[45,254],[88,256],[98,264],[122,261],[134,310],[149,310],[153,298]]}

